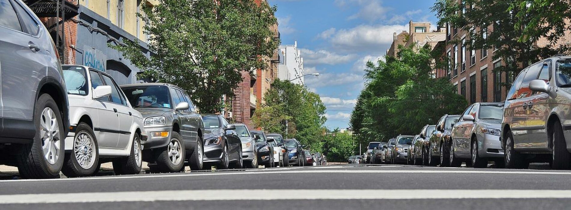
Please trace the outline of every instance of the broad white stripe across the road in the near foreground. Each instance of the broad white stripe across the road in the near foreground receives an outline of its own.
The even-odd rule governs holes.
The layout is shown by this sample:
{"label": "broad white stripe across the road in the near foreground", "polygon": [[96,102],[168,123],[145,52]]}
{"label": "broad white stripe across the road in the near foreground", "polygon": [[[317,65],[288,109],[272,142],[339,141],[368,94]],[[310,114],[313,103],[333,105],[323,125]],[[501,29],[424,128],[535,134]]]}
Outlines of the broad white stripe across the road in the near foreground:
{"label": "broad white stripe across the road in the near foreground", "polygon": [[[260,196],[263,195],[263,196]],[[284,196],[288,195],[288,196]],[[406,196],[403,196],[406,195]],[[188,200],[571,199],[570,190],[520,189],[217,189],[0,195],[0,204]]]}

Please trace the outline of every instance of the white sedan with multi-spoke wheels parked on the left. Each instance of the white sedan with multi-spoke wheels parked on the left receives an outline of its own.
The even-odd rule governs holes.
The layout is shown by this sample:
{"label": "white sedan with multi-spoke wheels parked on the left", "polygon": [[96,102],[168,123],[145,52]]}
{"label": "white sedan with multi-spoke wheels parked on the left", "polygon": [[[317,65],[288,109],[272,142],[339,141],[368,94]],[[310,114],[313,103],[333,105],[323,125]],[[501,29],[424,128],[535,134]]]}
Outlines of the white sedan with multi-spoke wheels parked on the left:
{"label": "white sedan with multi-spoke wheels parked on the left", "polygon": [[115,174],[139,173],[147,140],[140,112],[110,75],[87,66],[62,68],[70,107],[63,174],[92,176],[104,161],[113,162]]}

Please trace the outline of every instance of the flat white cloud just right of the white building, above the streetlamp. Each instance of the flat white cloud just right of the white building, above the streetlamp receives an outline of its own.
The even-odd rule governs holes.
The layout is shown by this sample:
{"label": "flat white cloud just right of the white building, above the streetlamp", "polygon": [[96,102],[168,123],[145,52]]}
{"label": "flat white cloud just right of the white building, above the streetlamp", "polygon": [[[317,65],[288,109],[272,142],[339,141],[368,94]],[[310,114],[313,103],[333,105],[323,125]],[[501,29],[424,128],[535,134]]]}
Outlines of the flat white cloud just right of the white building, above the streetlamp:
{"label": "flat white cloud just right of the white building, above the streetlamp", "polygon": [[355,54],[340,55],[332,53],[327,50],[317,50],[317,51],[309,49],[300,49],[300,50],[304,65],[347,63],[352,59],[355,59],[355,57],[357,56]]}

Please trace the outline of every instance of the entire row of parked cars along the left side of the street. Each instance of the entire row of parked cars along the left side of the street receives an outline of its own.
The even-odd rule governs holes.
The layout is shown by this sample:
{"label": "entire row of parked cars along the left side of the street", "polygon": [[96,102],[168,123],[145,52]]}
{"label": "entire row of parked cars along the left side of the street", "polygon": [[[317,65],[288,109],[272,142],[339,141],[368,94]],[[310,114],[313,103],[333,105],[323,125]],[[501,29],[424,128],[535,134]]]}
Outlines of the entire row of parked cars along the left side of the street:
{"label": "entire row of parked cars along the left side of the street", "polygon": [[[49,31],[22,1],[1,1],[0,164],[24,178],[311,165],[295,139],[198,114],[182,88],[119,86],[106,72],[61,65]],[[320,160],[321,161],[321,160]]]}

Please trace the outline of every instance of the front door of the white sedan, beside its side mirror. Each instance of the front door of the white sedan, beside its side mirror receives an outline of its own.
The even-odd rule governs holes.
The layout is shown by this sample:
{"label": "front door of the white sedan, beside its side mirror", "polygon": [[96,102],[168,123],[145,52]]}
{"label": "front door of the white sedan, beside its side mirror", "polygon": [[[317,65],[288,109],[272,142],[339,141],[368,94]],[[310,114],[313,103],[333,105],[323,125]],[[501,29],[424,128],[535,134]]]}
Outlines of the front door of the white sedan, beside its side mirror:
{"label": "front door of the white sedan, beside its side mirror", "polygon": [[[93,92],[96,87],[105,85],[100,71],[90,69],[89,75],[91,92]],[[98,99],[94,98],[94,100],[98,102],[94,103],[99,117],[99,122],[96,123],[97,126],[94,126],[95,132],[98,132],[97,143],[99,147],[117,147],[119,142],[119,114],[115,112],[116,105],[111,103],[111,96]]]}

